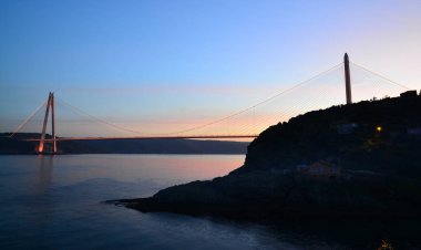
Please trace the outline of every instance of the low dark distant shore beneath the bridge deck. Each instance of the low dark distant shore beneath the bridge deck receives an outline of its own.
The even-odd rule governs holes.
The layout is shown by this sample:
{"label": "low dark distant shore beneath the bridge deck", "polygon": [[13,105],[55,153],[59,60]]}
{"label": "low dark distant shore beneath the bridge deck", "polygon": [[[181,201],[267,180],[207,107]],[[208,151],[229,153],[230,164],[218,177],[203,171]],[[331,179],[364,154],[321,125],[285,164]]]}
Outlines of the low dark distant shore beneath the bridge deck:
{"label": "low dark distant shore beneath the bridge deck", "polygon": [[[33,155],[40,134],[0,134],[0,155]],[[248,142],[198,140],[198,139],[110,139],[59,142],[59,154],[227,154],[244,155]]]}

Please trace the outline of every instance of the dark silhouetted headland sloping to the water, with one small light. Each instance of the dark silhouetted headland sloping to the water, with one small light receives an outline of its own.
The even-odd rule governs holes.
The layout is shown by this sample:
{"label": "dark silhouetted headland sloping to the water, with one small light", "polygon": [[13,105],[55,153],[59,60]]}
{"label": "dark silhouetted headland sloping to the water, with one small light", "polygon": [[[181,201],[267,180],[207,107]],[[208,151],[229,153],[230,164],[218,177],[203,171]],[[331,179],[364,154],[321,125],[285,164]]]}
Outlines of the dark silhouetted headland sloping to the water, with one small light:
{"label": "dark silhouetted headland sloping to the water, with one small light", "polygon": [[[340,175],[296,170],[320,160]],[[420,177],[421,96],[384,98],[277,124],[228,176],[120,202],[141,211],[229,217],[421,216]]]}

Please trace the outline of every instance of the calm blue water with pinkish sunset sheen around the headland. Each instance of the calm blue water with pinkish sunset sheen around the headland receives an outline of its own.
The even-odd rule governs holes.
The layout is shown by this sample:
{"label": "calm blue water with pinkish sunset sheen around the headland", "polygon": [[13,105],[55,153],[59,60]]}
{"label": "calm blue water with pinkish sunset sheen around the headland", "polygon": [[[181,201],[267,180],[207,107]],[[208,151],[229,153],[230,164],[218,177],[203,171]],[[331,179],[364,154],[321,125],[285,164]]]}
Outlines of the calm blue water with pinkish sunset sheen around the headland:
{"label": "calm blue water with pinkish sunset sheen around the headland", "polygon": [[102,202],[212,179],[243,162],[238,155],[0,156],[0,249],[350,249],[359,241],[374,248],[388,236],[356,222],[270,227]]}

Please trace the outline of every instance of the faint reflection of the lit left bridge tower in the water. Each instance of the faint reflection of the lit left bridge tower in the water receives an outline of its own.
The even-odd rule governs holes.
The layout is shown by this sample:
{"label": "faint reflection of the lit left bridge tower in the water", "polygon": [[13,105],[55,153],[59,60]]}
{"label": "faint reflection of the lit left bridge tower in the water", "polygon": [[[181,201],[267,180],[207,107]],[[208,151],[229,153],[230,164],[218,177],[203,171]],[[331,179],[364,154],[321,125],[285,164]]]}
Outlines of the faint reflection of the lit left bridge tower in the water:
{"label": "faint reflection of the lit left bridge tower in the water", "polygon": [[38,195],[47,192],[51,187],[53,180],[53,155],[39,155],[38,156],[38,181],[35,185],[35,192]]}

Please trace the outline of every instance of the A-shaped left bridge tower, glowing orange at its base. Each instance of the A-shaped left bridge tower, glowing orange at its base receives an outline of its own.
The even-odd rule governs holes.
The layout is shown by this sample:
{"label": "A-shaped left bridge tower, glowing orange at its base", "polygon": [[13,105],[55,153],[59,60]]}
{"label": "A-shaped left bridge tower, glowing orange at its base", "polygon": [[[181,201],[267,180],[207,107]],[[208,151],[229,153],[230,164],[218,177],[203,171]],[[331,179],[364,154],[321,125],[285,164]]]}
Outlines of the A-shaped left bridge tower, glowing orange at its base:
{"label": "A-shaped left bridge tower, glowing orange at its base", "polygon": [[[49,114],[51,108],[51,139],[45,140],[47,125],[49,121]],[[39,154],[57,154],[57,138],[55,138],[55,106],[54,106],[54,93],[49,93],[49,100],[47,101],[44,123],[42,125],[42,133],[40,144],[38,146]],[[50,145],[47,145],[49,143]]]}

